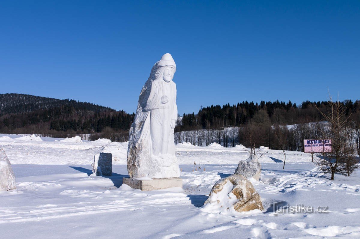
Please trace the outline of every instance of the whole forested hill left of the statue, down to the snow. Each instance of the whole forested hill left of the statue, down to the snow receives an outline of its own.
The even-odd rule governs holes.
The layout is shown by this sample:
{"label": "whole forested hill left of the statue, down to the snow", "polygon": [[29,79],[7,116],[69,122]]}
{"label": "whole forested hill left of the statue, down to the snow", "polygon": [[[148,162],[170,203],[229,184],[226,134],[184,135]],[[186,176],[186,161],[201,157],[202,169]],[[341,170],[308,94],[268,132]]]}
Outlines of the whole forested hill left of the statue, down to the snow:
{"label": "whole forested hill left of the statue, down to the snow", "polygon": [[133,119],[134,114],[88,102],[0,94],[0,133],[66,137],[106,131],[124,140]]}

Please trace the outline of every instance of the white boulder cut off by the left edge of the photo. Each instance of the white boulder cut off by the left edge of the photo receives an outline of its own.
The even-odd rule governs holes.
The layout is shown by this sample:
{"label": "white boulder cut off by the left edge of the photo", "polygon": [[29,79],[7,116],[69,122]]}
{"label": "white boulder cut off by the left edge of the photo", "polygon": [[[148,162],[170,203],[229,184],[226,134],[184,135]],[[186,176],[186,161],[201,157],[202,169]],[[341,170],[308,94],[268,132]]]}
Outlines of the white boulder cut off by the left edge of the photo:
{"label": "white boulder cut off by the left edge of the photo", "polygon": [[16,188],[15,175],[5,150],[0,149],[0,191]]}

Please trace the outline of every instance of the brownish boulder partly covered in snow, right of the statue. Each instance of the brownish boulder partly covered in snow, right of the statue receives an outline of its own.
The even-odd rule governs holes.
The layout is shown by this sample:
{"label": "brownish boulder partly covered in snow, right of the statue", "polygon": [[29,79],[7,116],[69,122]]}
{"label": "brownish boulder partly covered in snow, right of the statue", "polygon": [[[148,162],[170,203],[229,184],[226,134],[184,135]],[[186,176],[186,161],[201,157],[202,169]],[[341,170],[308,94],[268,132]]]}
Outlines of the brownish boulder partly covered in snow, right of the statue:
{"label": "brownish boulder partly covered in snow, right of the statue", "polygon": [[204,211],[217,213],[254,209],[264,210],[260,195],[246,177],[235,174],[218,180],[203,206]]}

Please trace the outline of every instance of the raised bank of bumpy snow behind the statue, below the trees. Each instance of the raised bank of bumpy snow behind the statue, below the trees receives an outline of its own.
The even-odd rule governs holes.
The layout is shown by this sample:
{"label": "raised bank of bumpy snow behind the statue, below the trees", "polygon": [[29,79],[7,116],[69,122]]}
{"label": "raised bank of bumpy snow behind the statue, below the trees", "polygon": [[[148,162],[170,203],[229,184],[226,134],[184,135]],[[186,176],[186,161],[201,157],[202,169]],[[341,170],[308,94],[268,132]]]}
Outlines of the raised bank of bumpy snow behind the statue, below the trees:
{"label": "raised bank of bumpy snow behind the statue, below the trees", "polygon": [[[77,137],[58,139],[35,135],[0,135],[0,147],[5,149],[12,164],[91,164],[94,155],[101,151],[112,154],[113,164],[126,165],[127,157],[127,142],[118,143],[108,139],[79,141]],[[244,146],[226,148],[217,143],[204,147],[190,143],[177,144],[175,155],[179,164],[238,164],[249,157]],[[261,163],[283,161],[280,150],[260,150],[258,155]],[[311,155],[288,151],[286,160],[309,162]]]}

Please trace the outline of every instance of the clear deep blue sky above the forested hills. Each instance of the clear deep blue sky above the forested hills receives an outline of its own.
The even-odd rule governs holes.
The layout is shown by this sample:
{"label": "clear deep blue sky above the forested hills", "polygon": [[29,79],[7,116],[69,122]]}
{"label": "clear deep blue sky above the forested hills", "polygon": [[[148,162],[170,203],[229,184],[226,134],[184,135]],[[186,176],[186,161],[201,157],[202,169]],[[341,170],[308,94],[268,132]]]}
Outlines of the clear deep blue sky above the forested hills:
{"label": "clear deep blue sky above the forested hills", "polygon": [[243,100],[360,99],[360,1],[1,1],[0,93],[132,113],[177,64],[179,113]]}

